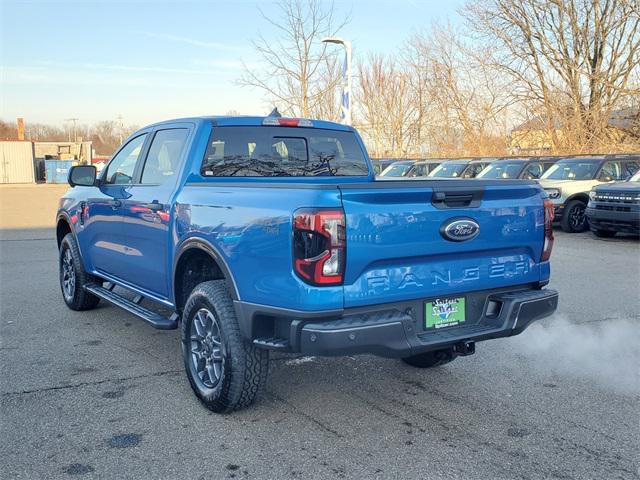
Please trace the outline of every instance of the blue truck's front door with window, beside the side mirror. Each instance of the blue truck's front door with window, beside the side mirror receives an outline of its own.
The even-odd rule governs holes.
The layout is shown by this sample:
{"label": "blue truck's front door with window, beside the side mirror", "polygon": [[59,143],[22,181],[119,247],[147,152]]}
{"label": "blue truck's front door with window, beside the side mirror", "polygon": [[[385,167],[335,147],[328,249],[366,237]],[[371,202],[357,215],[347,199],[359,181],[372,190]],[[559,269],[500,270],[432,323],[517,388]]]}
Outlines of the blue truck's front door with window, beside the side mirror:
{"label": "blue truck's front door with window, beside the side mirror", "polygon": [[91,271],[122,274],[126,248],[121,235],[122,206],[129,196],[128,188],[146,137],[143,133],[122,146],[81,209],[78,241],[81,250],[88,252],[87,268]]}

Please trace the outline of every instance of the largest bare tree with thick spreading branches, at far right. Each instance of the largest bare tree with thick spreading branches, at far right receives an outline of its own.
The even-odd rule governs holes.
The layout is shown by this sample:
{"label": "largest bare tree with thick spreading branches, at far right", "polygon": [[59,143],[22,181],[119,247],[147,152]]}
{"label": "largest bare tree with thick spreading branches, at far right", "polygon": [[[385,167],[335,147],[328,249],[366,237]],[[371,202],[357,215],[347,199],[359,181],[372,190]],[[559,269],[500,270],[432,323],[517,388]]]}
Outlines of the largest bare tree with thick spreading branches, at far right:
{"label": "largest bare tree with thick spreading branches, at far right", "polygon": [[593,149],[611,140],[612,112],[640,94],[637,0],[470,0],[465,18],[478,47],[540,118],[553,150]]}

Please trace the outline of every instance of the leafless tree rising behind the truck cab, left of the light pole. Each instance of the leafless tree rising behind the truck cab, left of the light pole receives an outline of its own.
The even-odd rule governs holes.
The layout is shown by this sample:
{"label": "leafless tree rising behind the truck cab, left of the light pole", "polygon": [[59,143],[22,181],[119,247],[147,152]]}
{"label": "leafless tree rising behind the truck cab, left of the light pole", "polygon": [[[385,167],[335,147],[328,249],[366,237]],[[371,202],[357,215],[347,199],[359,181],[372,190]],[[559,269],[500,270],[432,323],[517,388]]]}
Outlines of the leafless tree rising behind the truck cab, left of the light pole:
{"label": "leafless tree rising behind the truck cab, left of the light pole", "polygon": [[259,88],[285,114],[337,120],[328,108],[339,83],[337,54],[321,40],[334,36],[346,19],[336,22],[333,4],[320,0],[281,0],[274,13],[261,13],[278,37],[259,35],[253,45],[264,68],[245,65],[238,83]]}

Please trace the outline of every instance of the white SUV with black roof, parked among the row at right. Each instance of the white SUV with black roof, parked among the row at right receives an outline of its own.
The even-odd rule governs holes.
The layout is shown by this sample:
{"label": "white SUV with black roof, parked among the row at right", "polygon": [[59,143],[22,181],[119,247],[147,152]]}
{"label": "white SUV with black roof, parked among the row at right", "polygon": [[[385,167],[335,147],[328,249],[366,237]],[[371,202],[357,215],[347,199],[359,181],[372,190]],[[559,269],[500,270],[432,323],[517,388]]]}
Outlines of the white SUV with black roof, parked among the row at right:
{"label": "white SUV with black roof, parked among the row at right", "polygon": [[562,230],[584,232],[589,192],[600,183],[626,180],[640,169],[640,157],[569,157],[551,166],[540,185],[555,206],[555,219]]}

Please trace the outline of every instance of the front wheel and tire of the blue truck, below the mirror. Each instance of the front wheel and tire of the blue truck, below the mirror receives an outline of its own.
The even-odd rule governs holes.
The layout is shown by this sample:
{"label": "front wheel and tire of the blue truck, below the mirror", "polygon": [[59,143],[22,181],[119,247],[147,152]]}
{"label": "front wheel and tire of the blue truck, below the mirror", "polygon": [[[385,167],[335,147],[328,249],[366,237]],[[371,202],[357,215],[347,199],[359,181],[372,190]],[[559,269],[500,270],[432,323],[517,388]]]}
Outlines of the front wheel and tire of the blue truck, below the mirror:
{"label": "front wheel and tire of the blue truck, below the mirror", "polygon": [[100,298],[87,292],[84,286],[102,281],[86,272],[78,243],[73,233],[68,233],[60,242],[58,255],[60,289],[62,298],[71,310],[91,310],[100,302]]}

